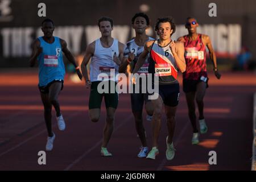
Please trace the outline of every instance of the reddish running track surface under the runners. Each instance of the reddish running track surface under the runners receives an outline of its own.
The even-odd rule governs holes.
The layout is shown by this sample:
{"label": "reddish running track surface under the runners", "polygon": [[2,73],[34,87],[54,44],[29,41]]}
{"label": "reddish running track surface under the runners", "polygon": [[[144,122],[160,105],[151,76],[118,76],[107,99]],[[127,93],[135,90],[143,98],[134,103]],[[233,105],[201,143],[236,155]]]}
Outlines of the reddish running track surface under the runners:
{"label": "reddish running track surface under the runners", "polygon": [[[102,109],[98,123],[90,122],[89,90],[83,83],[72,83],[67,76],[59,97],[67,129],[59,131],[53,118],[54,148],[46,153],[47,164],[39,165],[38,152],[45,150],[47,132],[36,86],[38,78],[36,73],[2,72],[0,170],[250,170],[255,74],[226,72],[221,80],[213,75],[209,77],[210,86],[205,96],[208,133],[200,135],[199,145],[192,146],[192,127],[181,92],[174,136],[176,155],[167,161],[164,114],[159,137],[160,154],[156,160],[137,158],[141,144],[136,137],[129,94],[119,96],[115,130],[108,146],[113,157],[101,157],[105,109]],[[151,124],[146,119],[144,126],[151,147]],[[217,152],[217,165],[209,165],[209,151]]]}

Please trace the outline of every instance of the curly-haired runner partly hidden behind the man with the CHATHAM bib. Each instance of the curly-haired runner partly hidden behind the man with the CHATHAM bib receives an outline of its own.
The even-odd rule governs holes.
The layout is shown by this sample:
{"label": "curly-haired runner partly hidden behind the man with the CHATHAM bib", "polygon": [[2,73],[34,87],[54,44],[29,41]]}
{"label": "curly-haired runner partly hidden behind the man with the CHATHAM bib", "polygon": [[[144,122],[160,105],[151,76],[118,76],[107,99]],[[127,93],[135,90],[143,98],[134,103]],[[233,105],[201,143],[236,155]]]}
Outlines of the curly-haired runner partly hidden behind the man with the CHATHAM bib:
{"label": "curly-haired runner partly hidden behind the man with the CHATHAM bib", "polygon": [[[133,71],[139,55],[143,52],[144,44],[148,40],[154,40],[150,36],[146,35],[146,29],[150,24],[150,19],[144,13],[137,13],[131,19],[131,23],[133,24],[133,28],[135,30],[135,38],[131,39],[126,43],[126,48],[124,52],[124,59],[122,64],[119,67],[119,72],[125,73],[127,69],[127,65],[131,65],[131,71]],[[148,56],[147,56],[148,59]],[[147,74],[148,71],[148,61],[146,61],[142,68],[139,69],[138,74]],[[135,127],[137,130],[137,134],[141,139],[142,147],[138,154],[139,158],[146,158],[148,153],[148,147],[146,142],[146,133],[143,126],[142,120],[142,110],[143,105],[145,103],[145,109],[147,112],[147,119],[151,120],[151,116],[153,115],[153,106],[152,102],[148,100],[147,93],[141,93],[142,82],[140,81],[140,93],[131,93],[131,110],[133,111],[134,119],[135,119]],[[146,83],[143,83],[145,86]],[[135,90],[135,89],[134,89]]]}

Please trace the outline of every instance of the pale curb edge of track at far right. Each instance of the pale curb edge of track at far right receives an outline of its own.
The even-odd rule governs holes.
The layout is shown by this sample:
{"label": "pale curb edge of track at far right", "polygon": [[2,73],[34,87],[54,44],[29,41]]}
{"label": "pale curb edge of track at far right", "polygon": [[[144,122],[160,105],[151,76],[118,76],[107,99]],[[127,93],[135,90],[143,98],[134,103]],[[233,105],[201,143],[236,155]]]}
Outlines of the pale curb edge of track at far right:
{"label": "pale curb edge of track at far right", "polygon": [[251,171],[256,171],[256,92],[253,102],[253,156],[251,157]]}

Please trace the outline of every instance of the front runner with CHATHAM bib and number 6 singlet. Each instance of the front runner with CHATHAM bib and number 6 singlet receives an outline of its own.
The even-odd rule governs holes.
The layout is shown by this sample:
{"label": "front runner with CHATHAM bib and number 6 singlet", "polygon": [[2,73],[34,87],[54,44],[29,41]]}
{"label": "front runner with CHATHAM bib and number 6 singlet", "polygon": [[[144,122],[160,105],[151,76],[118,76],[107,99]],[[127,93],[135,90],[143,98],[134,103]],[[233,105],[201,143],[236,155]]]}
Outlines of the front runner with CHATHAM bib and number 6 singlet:
{"label": "front runner with CHATHAM bib and number 6 singlet", "polygon": [[[174,42],[171,35],[175,32],[175,23],[172,18],[159,18],[155,25],[155,31],[159,35],[158,40],[146,42],[144,51],[139,56],[133,73],[137,73],[142,67],[148,53],[150,53],[150,63],[148,73],[158,76],[159,97],[152,100],[154,114],[152,118],[152,150],[147,158],[155,159],[158,155],[158,136],[161,127],[162,109],[165,107],[167,117],[168,136],[166,138],[167,160],[172,160],[175,155],[175,148],[172,142],[175,129],[175,114],[179,102],[179,82],[176,80],[178,69],[184,72],[186,69],[184,59],[184,46],[181,42]],[[133,78],[133,82],[135,82]],[[154,84],[154,82],[152,83]]]}

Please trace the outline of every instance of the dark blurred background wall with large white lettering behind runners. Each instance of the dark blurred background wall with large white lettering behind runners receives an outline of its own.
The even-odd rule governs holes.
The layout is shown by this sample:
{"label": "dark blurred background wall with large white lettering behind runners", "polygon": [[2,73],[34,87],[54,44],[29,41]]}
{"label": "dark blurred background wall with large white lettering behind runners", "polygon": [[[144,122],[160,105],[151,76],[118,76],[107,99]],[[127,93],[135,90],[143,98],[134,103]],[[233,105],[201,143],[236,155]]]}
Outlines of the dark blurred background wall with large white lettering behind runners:
{"label": "dark blurred background wall with large white lettering behind runners", "polygon": [[[254,0],[0,0],[0,68],[28,67],[31,44],[42,36],[40,24],[44,17],[38,16],[41,2],[46,4],[46,17],[55,22],[54,35],[66,40],[75,56],[82,55],[86,45],[100,37],[97,19],[101,16],[114,19],[112,35],[125,43],[134,36],[132,16],[143,11],[151,19],[148,35],[155,37],[157,18],[172,16],[177,25],[172,38],[177,39],[187,34],[185,19],[193,16],[200,24],[198,32],[210,36],[223,68],[233,69],[244,52],[249,53],[247,60],[255,63]],[[208,15],[209,3],[216,3],[217,17]]]}

